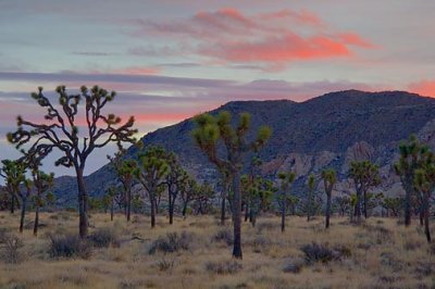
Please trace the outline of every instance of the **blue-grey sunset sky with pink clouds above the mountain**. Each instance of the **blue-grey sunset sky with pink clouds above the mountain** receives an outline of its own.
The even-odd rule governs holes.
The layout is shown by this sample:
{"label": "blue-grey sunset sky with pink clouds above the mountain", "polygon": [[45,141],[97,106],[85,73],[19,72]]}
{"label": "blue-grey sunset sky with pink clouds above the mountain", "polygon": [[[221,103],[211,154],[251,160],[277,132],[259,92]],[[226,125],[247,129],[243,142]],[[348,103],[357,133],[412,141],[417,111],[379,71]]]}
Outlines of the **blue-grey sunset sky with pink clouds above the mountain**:
{"label": "blue-grey sunset sky with pink clouds above the mountain", "polygon": [[[232,100],[346,89],[435,96],[435,1],[0,0],[0,160],[38,86],[117,91],[107,112],[139,136]],[[54,101],[55,102],[55,101]],[[114,147],[96,151],[89,174]],[[58,176],[72,171],[44,169]]]}

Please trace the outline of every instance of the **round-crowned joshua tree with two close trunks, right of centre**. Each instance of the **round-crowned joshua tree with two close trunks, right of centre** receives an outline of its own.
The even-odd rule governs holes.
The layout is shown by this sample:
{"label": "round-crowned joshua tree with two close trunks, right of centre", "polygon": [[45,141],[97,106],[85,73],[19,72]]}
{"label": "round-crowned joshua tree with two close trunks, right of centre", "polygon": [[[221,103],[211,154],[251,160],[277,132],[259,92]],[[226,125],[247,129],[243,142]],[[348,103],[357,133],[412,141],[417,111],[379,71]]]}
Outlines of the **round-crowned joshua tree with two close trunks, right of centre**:
{"label": "round-crowned joshua tree with two close trunks, right of centre", "polygon": [[363,198],[364,217],[368,218],[368,191],[370,188],[381,184],[378,166],[370,161],[351,162],[349,176],[353,179],[357,190],[357,202],[355,216],[361,221],[361,198]]}

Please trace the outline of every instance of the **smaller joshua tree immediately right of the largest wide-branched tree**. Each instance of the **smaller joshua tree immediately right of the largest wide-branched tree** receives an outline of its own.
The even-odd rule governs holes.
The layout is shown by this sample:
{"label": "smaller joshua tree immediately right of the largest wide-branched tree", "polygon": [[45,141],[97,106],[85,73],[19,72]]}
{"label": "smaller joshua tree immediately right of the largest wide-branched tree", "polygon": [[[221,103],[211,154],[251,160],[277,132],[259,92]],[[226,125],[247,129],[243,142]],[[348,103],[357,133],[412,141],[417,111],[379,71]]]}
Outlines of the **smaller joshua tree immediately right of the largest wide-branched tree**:
{"label": "smaller joshua tree immediately right of the largest wide-branched tree", "polygon": [[130,221],[132,215],[132,186],[135,178],[135,172],[137,169],[137,163],[134,160],[123,160],[124,151],[119,151],[114,158],[108,155],[111,164],[113,165],[117,178],[124,188],[124,201],[125,201],[125,215],[127,222]]}

